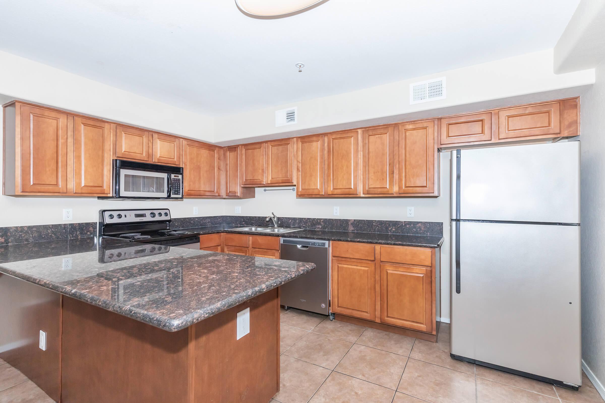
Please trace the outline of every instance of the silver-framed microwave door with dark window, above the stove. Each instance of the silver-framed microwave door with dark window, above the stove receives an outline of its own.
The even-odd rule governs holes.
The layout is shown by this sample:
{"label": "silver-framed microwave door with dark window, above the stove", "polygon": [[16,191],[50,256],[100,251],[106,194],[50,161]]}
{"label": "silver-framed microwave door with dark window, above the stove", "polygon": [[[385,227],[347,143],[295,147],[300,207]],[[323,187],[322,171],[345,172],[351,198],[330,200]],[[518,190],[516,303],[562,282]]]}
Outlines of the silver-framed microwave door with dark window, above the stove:
{"label": "silver-framed microwave door with dark window, above the stove", "polygon": [[168,198],[168,173],[120,169],[117,176],[119,198]]}

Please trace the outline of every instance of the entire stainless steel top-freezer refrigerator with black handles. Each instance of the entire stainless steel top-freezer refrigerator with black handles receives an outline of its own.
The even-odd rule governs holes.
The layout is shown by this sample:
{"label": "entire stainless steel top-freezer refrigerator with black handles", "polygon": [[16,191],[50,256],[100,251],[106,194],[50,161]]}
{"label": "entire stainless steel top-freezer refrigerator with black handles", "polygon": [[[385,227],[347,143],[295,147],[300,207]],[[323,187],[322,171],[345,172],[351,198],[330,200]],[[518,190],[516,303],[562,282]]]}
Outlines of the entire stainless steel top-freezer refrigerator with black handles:
{"label": "entire stainless steel top-freezer refrigerator with black handles", "polygon": [[451,356],[577,389],[580,141],[451,163]]}

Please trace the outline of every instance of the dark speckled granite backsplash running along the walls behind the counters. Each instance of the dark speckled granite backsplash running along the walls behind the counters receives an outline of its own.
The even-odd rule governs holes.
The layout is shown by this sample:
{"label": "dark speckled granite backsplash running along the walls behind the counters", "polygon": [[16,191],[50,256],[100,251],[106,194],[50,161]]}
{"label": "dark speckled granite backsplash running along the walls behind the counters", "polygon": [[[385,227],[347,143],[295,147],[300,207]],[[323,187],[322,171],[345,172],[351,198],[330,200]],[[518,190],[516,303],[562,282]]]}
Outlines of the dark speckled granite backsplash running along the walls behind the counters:
{"label": "dark speckled granite backsplash running along the walls behind the counters", "polygon": [[[267,225],[265,218],[260,216],[206,216],[173,218],[171,227],[193,228],[221,224],[242,226]],[[280,227],[329,231],[443,236],[443,223],[431,221],[280,217],[278,225],[280,225]],[[59,239],[76,239],[94,236],[96,233],[97,222],[0,227],[0,245]]]}

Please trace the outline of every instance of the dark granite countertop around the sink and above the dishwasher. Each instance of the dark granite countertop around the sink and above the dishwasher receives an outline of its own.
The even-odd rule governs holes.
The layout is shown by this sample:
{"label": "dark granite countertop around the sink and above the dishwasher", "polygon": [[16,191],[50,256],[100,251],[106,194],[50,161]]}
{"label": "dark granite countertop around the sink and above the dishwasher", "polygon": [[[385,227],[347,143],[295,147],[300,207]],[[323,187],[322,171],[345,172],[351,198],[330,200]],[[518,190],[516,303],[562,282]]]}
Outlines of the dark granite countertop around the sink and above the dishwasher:
{"label": "dark granite countertop around the sink and above the dishwasher", "polygon": [[332,230],[300,230],[288,233],[263,233],[252,231],[235,231],[234,228],[246,227],[246,225],[210,225],[208,227],[181,228],[188,231],[200,232],[202,234],[214,234],[220,232],[234,234],[253,234],[280,236],[284,238],[306,238],[321,240],[341,240],[344,242],[377,243],[379,245],[398,245],[404,247],[439,248],[443,243],[442,236],[416,235],[416,234],[385,234],[354,231],[332,231]]}

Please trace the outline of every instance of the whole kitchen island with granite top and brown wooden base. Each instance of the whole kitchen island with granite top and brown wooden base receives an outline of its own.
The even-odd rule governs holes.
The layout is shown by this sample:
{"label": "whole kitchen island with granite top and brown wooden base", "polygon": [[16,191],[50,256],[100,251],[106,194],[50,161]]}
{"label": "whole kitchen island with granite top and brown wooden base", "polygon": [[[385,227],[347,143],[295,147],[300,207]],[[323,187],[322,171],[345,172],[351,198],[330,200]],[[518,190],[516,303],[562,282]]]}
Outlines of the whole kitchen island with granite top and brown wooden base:
{"label": "whole kitchen island with granite top and brown wooden base", "polygon": [[0,247],[0,358],[57,402],[272,398],[277,287],[312,263],[102,240]]}

